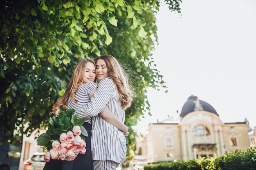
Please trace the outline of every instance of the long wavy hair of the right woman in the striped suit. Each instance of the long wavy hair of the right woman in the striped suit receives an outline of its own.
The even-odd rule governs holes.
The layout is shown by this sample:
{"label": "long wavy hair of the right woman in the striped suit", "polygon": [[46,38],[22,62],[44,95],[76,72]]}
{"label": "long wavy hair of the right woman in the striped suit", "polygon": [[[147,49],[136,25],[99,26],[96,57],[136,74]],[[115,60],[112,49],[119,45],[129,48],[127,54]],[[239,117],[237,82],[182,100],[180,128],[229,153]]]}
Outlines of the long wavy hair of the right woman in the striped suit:
{"label": "long wavy hair of the right woman in the striped suit", "polygon": [[123,109],[129,108],[132,104],[133,92],[129,84],[128,74],[126,71],[124,71],[124,68],[121,67],[117,59],[112,55],[101,55],[96,59],[95,62],[97,63],[99,59],[106,62],[108,75],[112,78],[113,82],[117,86],[121,107]]}

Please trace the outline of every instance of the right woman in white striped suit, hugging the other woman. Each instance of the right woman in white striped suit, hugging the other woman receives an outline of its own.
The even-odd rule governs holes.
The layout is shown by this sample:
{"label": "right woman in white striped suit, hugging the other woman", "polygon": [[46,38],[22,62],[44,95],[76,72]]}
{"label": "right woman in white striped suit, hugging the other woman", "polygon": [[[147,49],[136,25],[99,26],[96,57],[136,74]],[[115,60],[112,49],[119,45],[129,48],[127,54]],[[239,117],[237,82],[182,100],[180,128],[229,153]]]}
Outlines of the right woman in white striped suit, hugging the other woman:
{"label": "right woman in white striped suit, hugging the other woman", "polygon": [[132,91],[128,76],[112,55],[96,60],[96,75],[100,80],[90,103],[75,111],[81,118],[92,117],[92,159],[94,170],[116,170],[126,157],[126,138],[122,131],[104,121],[99,113],[106,106],[123,123],[124,110],[131,105]]}

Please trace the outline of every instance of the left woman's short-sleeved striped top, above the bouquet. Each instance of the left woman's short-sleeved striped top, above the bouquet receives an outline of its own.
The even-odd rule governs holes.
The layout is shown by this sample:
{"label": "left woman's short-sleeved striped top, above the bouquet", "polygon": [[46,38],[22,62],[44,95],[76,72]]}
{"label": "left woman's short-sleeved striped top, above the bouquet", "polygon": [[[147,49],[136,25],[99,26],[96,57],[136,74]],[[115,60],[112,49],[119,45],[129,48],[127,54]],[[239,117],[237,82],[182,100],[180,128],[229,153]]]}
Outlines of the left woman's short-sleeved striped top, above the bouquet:
{"label": "left woman's short-sleeved striped top, above the bouquet", "polygon": [[[77,100],[77,103],[73,102],[71,97],[69,97],[67,108],[76,110],[88,104],[90,102],[90,93],[94,88],[97,88],[97,84],[94,82],[83,84],[81,87],[79,87],[79,89],[76,91],[76,95],[74,96],[74,98]],[[85,119],[85,122],[92,124],[92,119],[88,117],[88,119]]]}

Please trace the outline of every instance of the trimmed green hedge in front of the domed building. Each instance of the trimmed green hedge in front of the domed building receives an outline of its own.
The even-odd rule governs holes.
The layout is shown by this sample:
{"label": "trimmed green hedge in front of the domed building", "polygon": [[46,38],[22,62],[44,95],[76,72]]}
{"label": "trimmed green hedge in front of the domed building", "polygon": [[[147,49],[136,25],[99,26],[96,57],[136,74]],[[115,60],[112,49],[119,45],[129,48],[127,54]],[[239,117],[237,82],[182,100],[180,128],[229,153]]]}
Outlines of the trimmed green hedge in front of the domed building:
{"label": "trimmed green hedge in front of the domed building", "polygon": [[235,150],[214,158],[159,162],[144,166],[144,170],[256,170],[256,148]]}

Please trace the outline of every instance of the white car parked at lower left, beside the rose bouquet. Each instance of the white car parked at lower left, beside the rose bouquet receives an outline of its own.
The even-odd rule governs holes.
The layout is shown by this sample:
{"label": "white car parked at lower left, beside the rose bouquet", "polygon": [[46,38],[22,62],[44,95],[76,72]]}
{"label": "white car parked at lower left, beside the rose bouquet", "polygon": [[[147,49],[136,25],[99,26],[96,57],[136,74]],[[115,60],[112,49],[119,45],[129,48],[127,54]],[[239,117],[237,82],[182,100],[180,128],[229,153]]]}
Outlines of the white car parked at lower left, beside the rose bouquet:
{"label": "white car parked at lower left, beside the rose bouquet", "polygon": [[34,155],[24,162],[24,170],[43,170],[45,166],[45,152],[36,152]]}

